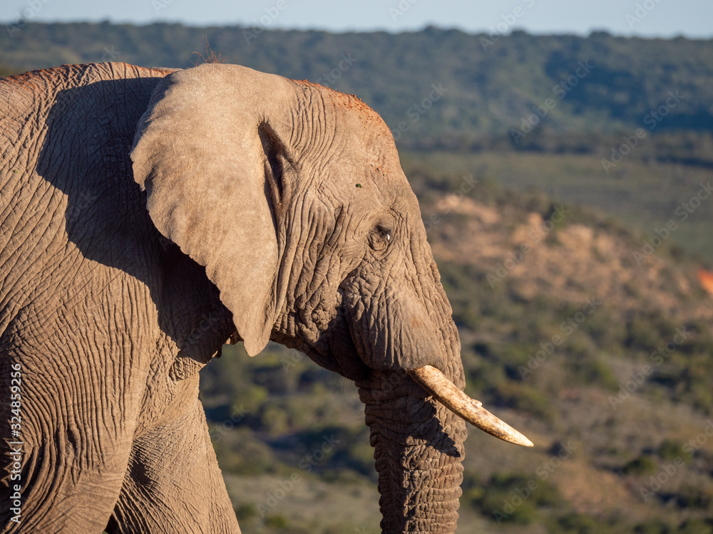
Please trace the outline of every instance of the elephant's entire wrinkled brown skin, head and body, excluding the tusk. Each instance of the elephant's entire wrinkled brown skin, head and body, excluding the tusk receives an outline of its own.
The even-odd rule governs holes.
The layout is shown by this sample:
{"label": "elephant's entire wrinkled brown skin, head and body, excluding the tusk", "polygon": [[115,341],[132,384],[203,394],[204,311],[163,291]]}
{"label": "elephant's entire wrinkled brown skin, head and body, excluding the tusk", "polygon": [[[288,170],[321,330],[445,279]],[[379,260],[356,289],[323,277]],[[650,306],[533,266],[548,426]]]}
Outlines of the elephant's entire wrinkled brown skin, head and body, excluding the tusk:
{"label": "elephant's entire wrinkled brown skin, head and body, excluding the tusk", "polygon": [[381,528],[452,533],[465,424],[405,370],[462,388],[460,345],[388,128],[319,85],[168,74],[0,80],[0,373],[21,365],[24,441],[2,532],[239,532],[197,373],[232,337],[354,379]]}

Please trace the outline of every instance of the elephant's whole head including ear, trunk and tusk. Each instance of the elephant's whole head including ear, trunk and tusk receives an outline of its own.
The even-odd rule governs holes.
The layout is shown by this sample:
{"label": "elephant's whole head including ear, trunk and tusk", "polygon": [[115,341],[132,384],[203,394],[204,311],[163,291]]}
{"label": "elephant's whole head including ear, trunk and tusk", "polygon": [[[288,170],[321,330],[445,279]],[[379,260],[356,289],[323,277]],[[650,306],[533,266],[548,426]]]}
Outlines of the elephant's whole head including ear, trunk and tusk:
{"label": "elephant's whole head including ear, trunk and tusk", "polygon": [[463,419],[530,442],[462,392],[451,306],[381,117],[207,64],[158,85],[131,157],[155,226],[205,266],[249,355],[272,339],[354,379],[383,530],[453,532]]}

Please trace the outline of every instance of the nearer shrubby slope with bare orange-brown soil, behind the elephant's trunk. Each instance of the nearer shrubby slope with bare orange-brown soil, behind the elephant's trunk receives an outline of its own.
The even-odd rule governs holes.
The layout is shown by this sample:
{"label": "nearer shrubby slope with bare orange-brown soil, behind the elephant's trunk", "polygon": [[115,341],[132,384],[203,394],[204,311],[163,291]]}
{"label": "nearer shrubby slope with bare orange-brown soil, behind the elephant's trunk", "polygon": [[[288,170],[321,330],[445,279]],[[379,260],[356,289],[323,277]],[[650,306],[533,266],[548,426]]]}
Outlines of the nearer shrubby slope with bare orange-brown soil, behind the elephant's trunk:
{"label": "nearer shrubby slope with bare orange-brown soil, behind the elephant's trunk", "polygon": [[[713,301],[697,263],[664,245],[637,264],[640,236],[542,194],[487,180],[462,198],[421,189],[446,181],[457,190],[461,177],[440,181],[414,187],[426,219],[439,214],[429,240],[461,333],[466,391],[536,444],[523,451],[471,429],[459,530],[711,532]],[[277,345],[252,359],[231,349],[205,371],[219,461],[246,530],[378,531],[351,382]],[[339,444],[304,473],[299,459],[324,436]],[[299,491],[262,518],[259,506],[295,471]],[[537,488],[523,500],[530,482]],[[315,517],[317,503],[329,514]]]}

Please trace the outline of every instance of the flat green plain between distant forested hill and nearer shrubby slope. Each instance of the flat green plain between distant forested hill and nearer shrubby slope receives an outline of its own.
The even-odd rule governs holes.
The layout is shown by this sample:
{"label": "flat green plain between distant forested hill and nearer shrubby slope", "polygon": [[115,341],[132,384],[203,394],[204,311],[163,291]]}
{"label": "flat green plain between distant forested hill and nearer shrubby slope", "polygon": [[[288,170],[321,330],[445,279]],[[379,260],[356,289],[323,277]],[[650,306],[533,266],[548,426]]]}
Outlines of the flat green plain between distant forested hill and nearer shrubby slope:
{"label": "flat green plain between distant forested hill and nearer shrubby slope", "polygon": [[[657,150],[657,147],[642,147]],[[713,154],[713,146],[711,147]],[[457,192],[468,180],[495,182],[518,192],[542,192],[575,206],[588,206],[639,232],[631,254],[655,241],[657,229],[675,226],[665,242],[713,261],[713,182],[710,169],[630,157],[606,173],[600,158],[583,153],[483,151],[406,152],[401,162],[419,191]],[[452,176],[458,182],[449,182]],[[700,198],[698,195],[700,194]],[[695,206],[695,207],[693,207]]]}

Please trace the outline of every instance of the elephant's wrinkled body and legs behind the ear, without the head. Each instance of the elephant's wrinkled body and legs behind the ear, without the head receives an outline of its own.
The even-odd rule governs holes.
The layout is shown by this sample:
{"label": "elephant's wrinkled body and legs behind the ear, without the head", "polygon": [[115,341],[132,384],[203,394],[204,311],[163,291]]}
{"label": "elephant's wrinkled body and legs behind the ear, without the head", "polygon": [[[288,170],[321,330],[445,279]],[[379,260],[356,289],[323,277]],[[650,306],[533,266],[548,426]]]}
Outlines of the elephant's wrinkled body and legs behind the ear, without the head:
{"label": "elephant's wrinkled body and legs behind the ear, without the head", "polygon": [[22,523],[6,523],[4,498],[4,532],[101,532],[110,516],[117,532],[239,530],[196,373],[230,312],[156,231],[131,174],[167,73],[103,63],[0,83],[1,372],[20,364],[24,441]]}

